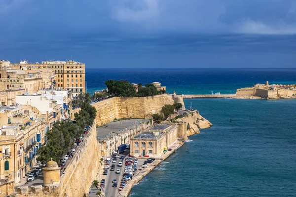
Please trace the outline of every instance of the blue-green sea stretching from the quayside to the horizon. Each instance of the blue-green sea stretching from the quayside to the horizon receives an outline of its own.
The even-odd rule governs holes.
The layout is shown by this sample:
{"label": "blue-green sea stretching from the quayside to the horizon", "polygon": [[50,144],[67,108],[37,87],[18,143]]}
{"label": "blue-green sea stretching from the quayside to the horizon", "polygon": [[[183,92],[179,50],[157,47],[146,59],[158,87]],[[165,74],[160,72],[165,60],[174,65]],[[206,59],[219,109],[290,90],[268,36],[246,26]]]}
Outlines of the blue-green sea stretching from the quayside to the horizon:
{"label": "blue-green sea stretching from the quayside to the horizon", "polygon": [[[256,83],[296,84],[296,69],[87,69],[87,89],[108,79],[161,82],[178,94],[235,93]],[[295,197],[296,99],[185,99],[213,127],[149,173],[130,197]],[[231,118],[231,122],[230,122]]]}

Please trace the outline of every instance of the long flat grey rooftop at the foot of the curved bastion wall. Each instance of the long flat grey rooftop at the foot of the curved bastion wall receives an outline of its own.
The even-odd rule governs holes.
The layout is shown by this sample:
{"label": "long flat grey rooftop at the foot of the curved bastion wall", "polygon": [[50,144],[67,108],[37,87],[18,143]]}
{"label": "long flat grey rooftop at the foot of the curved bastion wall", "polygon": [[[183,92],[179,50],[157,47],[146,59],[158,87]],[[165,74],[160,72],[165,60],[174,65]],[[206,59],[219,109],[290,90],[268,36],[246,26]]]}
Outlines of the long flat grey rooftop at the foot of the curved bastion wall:
{"label": "long flat grey rooftop at the foot of the curved bastion wall", "polygon": [[[140,125],[142,122],[150,121],[148,119],[117,119],[106,125],[101,125],[97,127],[97,138],[104,139],[105,137],[110,137],[111,134],[117,134],[119,131],[124,131],[125,129],[131,129],[135,126]],[[114,133],[112,133],[114,131]]]}

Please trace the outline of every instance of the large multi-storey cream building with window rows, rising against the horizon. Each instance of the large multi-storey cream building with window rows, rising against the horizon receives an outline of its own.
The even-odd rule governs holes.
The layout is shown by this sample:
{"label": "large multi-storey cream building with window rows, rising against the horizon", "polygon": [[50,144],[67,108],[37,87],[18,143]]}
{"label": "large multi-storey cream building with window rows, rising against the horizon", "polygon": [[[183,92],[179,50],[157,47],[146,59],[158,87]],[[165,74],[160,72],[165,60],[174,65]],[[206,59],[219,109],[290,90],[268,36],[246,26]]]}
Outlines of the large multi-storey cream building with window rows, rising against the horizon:
{"label": "large multi-storey cream building with window rows, rising against the horizon", "polygon": [[54,73],[55,89],[71,90],[73,96],[85,93],[85,64],[69,60],[45,61],[41,64],[11,64],[13,69],[38,70],[39,72]]}

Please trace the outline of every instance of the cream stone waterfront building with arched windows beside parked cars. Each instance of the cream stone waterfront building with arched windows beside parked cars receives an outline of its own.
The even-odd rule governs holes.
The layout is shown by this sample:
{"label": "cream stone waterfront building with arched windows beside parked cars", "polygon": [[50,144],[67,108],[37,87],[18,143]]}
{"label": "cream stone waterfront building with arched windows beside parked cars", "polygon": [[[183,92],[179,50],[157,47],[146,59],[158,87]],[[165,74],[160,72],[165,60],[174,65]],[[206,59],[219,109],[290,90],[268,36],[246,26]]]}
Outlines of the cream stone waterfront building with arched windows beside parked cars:
{"label": "cream stone waterfront building with arched windows beside parked cars", "polygon": [[[162,130],[159,126],[166,128]],[[156,125],[131,138],[131,154],[142,157],[157,156],[177,139],[177,125]]]}

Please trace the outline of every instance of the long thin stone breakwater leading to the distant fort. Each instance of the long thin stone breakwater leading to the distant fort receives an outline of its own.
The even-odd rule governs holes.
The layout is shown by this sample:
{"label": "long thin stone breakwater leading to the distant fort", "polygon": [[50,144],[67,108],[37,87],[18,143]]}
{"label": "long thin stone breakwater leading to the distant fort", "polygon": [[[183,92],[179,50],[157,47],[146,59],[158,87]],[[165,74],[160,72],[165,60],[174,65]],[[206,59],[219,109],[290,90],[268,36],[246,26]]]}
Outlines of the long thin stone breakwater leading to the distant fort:
{"label": "long thin stone breakwater leading to the distant fort", "polygon": [[182,95],[183,99],[261,99],[256,96],[239,96],[236,94],[224,94],[224,95]]}

